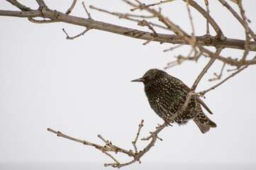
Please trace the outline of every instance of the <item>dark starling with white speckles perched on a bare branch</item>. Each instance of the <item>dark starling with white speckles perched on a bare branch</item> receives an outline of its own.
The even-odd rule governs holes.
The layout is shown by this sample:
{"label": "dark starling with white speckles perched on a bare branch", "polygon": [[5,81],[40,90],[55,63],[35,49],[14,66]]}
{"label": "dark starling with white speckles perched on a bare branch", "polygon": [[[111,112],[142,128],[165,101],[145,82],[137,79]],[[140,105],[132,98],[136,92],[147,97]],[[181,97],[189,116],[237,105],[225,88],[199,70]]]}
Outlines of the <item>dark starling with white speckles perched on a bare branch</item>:
{"label": "dark starling with white speckles perched on a bare branch", "polygon": [[[168,124],[172,123],[172,115],[184,104],[190,91],[181,80],[160,69],[149,69],[143,77],[132,81],[143,82],[150,107]],[[174,123],[185,125],[189,120],[194,120],[202,133],[208,132],[210,128],[216,128],[216,123],[206,116],[201,106],[213,114],[199,96],[191,96],[187,108],[174,118]]]}

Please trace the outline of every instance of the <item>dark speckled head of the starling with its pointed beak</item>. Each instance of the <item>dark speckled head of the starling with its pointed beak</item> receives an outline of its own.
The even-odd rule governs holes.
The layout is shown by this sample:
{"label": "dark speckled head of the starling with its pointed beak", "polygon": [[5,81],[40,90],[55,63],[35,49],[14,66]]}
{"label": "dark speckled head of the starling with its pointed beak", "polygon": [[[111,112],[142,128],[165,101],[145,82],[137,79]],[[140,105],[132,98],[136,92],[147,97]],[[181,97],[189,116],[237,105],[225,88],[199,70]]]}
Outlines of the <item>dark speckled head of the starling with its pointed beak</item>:
{"label": "dark speckled head of the starling with its pointed beak", "polygon": [[144,84],[148,84],[151,81],[155,81],[156,79],[160,79],[162,77],[165,77],[166,75],[168,74],[160,69],[150,69],[143,75],[143,77],[132,81],[143,82]]}

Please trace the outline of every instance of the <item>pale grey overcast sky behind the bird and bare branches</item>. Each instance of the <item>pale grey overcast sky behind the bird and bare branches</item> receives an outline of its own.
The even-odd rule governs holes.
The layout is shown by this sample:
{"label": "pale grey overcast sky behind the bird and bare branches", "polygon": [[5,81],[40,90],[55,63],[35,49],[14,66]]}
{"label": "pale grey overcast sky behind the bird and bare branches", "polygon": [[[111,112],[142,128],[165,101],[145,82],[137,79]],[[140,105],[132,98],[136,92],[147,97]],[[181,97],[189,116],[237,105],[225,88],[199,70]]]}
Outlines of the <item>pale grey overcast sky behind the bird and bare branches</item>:
{"label": "pale grey overcast sky behind the bird and bare branches", "polygon": [[[71,4],[71,1],[45,2],[50,8],[63,12]],[[113,0],[85,1],[85,4],[109,11],[130,9],[123,2]],[[26,2],[26,5],[37,8],[34,1]],[[5,1],[1,1],[0,6],[1,9],[16,10]],[[243,6],[251,21],[250,27],[255,30],[256,2],[244,1]],[[163,13],[191,33],[186,5],[174,1],[167,7]],[[243,29],[237,21],[228,19],[231,14],[226,8],[216,3],[210,6],[210,10],[211,13],[218,11],[218,14],[212,14],[213,18],[228,38],[244,39]],[[97,21],[138,28],[136,23],[91,9],[89,12]],[[87,17],[81,1],[77,2],[71,15]],[[204,35],[205,21],[196,13],[193,13],[193,18],[195,25],[197,23],[196,35]],[[174,45],[157,42],[143,45],[145,40],[100,30],[89,30],[81,38],[66,40],[62,28],[69,35],[77,35],[84,28],[65,23],[35,24],[26,18],[3,16],[0,23],[0,166],[4,163],[96,162],[91,165],[95,169],[113,162],[99,150],[57,137],[47,128],[104,145],[97,137],[101,134],[114,145],[133,149],[131,141],[140,120],[145,120],[141,137],[148,136],[148,132],[155,130],[157,123],[163,123],[163,120],[151,110],[143,84],[131,83],[130,80],[142,77],[148,69],[163,69],[167,62],[174,60],[174,56],[186,55],[190,50],[184,46],[163,52]],[[224,50],[221,54],[240,57],[243,51]],[[250,57],[253,55],[255,52],[250,53]],[[197,64],[184,62],[166,71],[191,86],[207,62],[208,59],[201,58]],[[197,91],[215,85],[218,81],[209,82],[207,79],[221,67],[221,62],[216,62]],[[217,128],[205,135],[193,121],[184,126],[174,124],[165,128],[160,133],[163,141],[157,141],[155,147],[142,157],[142,164],[135,163],[125,169],[143,169],[148,164],[157,163],[254,164],[250,167],[256,167],[255,71],[256,67],[250,66],[206,94],[204,101],[213,112],[208,117]],[[223,77],[229,74],[225,72]],[[138,141],[139,149],[145,144],[147,142]],[[121,155],[119,160],[130,159]]]}

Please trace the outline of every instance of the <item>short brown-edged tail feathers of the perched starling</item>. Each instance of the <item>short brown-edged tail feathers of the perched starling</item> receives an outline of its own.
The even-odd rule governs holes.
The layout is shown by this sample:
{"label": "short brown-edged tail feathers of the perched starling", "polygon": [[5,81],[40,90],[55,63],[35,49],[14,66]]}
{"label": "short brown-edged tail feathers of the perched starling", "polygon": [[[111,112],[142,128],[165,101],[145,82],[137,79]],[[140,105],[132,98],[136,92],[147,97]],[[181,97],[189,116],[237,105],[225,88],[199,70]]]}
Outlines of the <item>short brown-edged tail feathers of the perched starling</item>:
{"label": "short brown-edged tail feathers of the perched starling", "polygon": [[210,130],[210,128],[216,128],[216,123],[213,123],[203,111],[200,111],[196,117],[194,118],[194,122],[198,125],[199,129],[202,133],[206,133]]}

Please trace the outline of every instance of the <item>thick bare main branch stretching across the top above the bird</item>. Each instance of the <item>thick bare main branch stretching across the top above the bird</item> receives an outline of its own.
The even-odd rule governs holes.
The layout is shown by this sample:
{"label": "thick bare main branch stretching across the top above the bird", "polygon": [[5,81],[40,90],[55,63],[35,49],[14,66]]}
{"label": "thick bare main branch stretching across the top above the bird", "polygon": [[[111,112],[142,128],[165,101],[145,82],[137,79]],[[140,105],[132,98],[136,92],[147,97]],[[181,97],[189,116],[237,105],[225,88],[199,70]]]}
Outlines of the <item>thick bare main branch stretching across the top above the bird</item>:
{"label": "thick bare main branch stretching across the top above the bird", "polygon": [[[41,12],[41,14],[39,14]],[[33,16],[33,13],[35,16]],[[53,21],[60,21],[63,23],[71,23],[77,26],[90,27],[91,29],[104,30],[110,33],[117,33],[120,35],[125,35],[131,38],[138,38],[142,40],[152,40],[157,42],[167,42],[172,44],[184,44],[188,45],[189,42],[184,40],[184,38],[177,35],[161,34],[157,33],[157,37],[153,33],[146,31],[136,30],[132,28],[125,28],[121,26],[116,26],[109,23],[104,23],[100,21],[94,21],[87,18],[79,18],[77,16],[69,16],[65,13],[59,11],[53,11],[48,7],[43,7],[40,11],[33,11],[33,13],[23,13],[18,11],[3,11],[0,10],[0,16],[16,16],[16,17],[43,17],[50,18]],[[196,36],[196,41],[200,42],[201,45],[206,46],[222,46],[244,50],[245,49],[245,40],[236,40],[236,39],[226,39],[226,40],[217,40],[213,36]],[[249,51],[256,51],[256,42],[249,42]]]}

